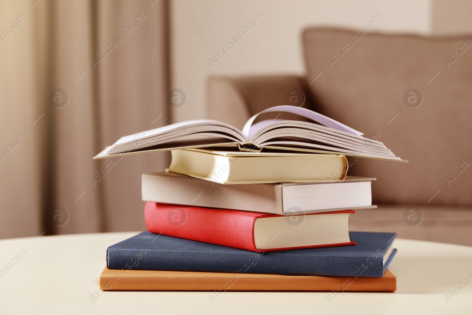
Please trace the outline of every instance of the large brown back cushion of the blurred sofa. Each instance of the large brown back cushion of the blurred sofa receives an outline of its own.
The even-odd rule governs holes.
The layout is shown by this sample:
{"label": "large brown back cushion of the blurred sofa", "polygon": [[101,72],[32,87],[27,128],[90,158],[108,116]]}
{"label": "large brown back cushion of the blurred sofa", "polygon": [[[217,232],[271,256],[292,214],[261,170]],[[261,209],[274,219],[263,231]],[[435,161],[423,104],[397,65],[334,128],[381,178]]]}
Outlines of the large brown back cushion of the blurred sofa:
{"label": "large brown back cushion of the blurred sofa", "polygon": [[466,35],[303,33],[317,110],[409,160],[350,159],[351,175],[378,179],[375,202],[472,205],[471,44]]}

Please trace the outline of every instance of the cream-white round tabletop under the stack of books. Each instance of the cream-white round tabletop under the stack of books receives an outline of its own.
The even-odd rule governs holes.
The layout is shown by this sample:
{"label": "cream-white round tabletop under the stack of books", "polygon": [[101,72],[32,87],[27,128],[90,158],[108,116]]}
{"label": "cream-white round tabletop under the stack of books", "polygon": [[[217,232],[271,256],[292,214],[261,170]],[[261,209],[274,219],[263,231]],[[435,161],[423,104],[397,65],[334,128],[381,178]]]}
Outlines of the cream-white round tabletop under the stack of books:
{"label": "cream-white round tabletop under the stack of books", "polygon": [[0,314],[472,314],[472,247],[408,239],[394,293],[100,291],[106,248],[137,233],[0,240]]}

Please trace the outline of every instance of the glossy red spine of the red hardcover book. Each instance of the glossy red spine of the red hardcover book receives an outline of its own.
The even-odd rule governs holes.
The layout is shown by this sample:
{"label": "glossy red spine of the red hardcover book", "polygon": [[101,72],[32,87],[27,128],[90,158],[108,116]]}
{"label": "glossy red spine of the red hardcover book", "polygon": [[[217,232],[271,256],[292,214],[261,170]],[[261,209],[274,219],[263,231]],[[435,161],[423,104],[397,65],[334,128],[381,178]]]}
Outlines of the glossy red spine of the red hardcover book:
{"label": "glossy red spine of the red hardcover book", "polygon": [[254,221],[260,215],[235,210],[188,207],[148,202],[144,219],[156,234],[257,252]]}

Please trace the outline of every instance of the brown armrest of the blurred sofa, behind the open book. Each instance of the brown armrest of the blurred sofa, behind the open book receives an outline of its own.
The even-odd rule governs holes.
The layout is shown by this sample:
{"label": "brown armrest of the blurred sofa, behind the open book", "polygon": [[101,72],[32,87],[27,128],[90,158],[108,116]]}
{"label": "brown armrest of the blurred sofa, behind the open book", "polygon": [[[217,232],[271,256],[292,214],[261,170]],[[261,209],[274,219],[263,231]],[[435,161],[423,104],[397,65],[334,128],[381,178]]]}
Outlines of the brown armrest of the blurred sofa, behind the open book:
{"label": "brown armrest of the blurred sofa, behind the open book", "polygon": [[242,129],[244,123],[269,107],[295,105],[312,109],[304,79],[298,76],[213,76],[207,82],[207,117]]}

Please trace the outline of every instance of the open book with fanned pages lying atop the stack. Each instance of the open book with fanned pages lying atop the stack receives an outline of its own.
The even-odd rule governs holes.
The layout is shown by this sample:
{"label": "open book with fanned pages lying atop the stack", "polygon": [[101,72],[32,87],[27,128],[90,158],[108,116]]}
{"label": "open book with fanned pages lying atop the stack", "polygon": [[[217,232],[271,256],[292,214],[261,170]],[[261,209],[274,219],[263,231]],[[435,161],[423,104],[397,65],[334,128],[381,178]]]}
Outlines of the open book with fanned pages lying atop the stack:
{"label": "open book with fanned pages lying atop the stack", "polygon": [[[313,122],[272,119],[253,123],[262,113],[288,112]],[[216,120],[190,120],[124,136],[94,159],[143,152],[233,145],[237,151],[290,150],[343,154],[407,162],[382,142],[334,119],[296,106],[275,106],[251,117],[242,131]]]}

